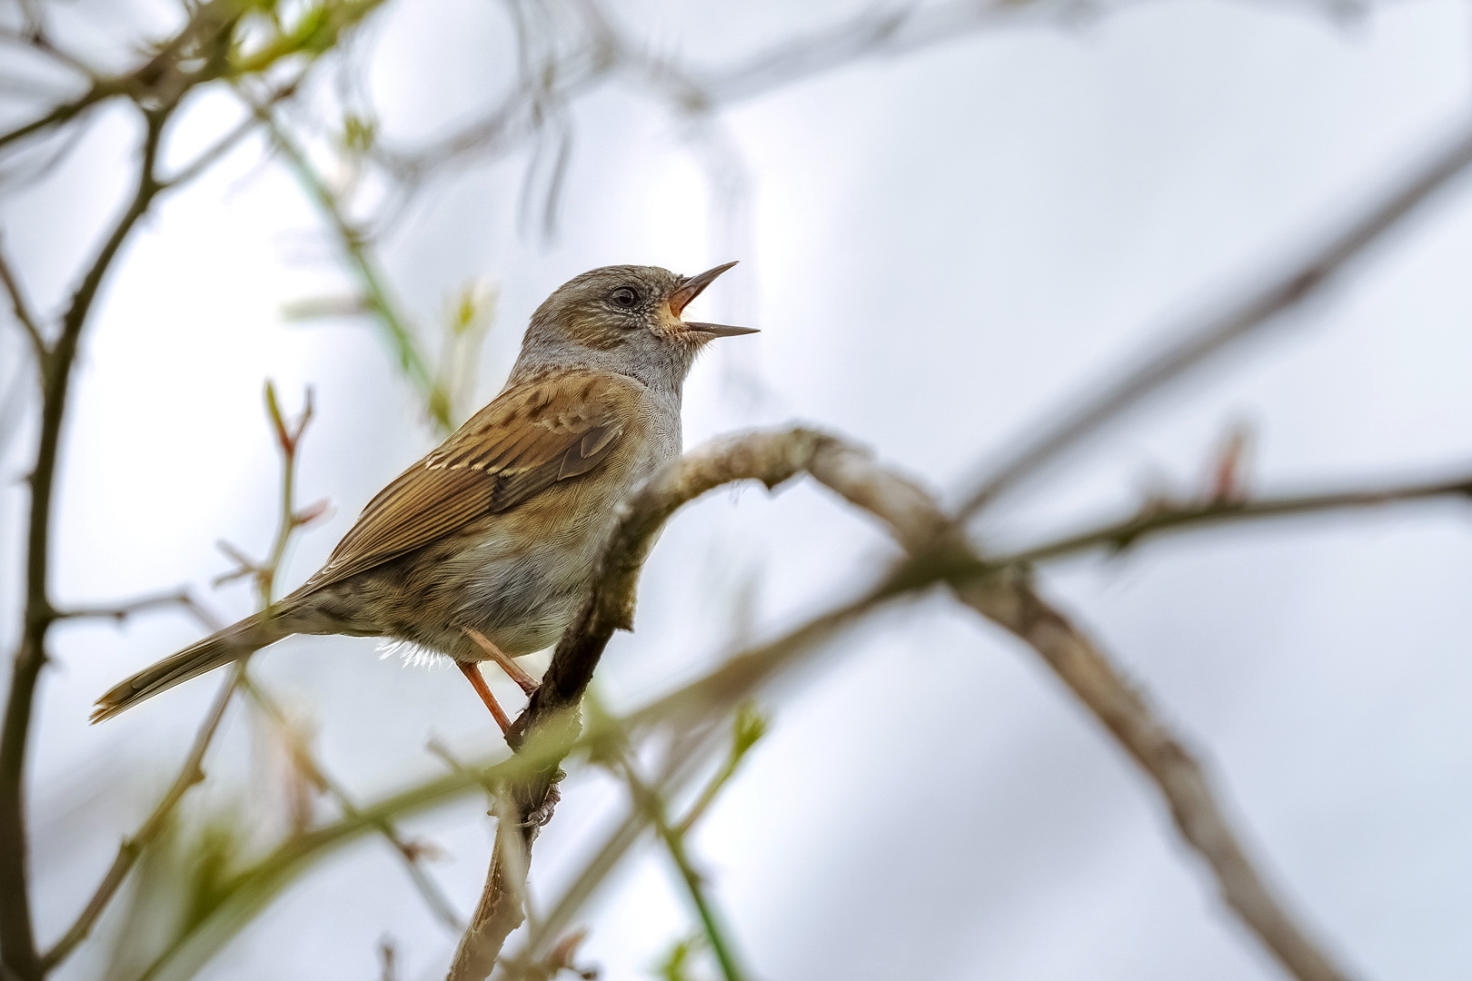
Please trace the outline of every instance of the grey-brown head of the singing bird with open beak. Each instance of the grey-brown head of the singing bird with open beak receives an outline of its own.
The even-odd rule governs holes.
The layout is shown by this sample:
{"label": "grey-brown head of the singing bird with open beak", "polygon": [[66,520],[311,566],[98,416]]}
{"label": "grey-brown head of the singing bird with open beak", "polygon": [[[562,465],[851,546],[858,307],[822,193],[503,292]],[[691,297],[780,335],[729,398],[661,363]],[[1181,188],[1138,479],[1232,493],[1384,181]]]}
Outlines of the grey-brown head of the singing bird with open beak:
{"label": "grey-brown head of the singing bird with open beak", "polygon": [[517,366],[601,366],[679,384],[717,337],[755,334],[684,319],[684,307],[735,262],[682,277],[658,266],[604,266],[567,281],[531,315]]}

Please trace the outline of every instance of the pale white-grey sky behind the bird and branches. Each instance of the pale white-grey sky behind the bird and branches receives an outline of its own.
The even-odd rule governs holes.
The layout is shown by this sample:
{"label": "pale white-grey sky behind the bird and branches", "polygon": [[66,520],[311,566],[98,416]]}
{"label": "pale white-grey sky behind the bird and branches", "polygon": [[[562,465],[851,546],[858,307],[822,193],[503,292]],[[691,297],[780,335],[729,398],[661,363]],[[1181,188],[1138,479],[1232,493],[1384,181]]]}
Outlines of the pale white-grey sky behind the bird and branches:
{"label": "pale white-grey sky behind the bird and branches", "polygon": [[[727,63],[851,10],[643,3],[623,21],[693,63]],[[436,132],[506,78],[503,24],[481,4],[400,3],[372,35],[371,90],[397,137]],[[1450,1],[1347,25],[1269,4],[1157,3],[864,62],[724,115],[752,191],[749,252],[735,256],[711,249],[702,171],[668,118],[605,90],[576,113],[556,241],[518,229],[517,157],[436,184],[386,259],[422,322],[467,279],[499,284],[484,397],[530,310],[571,275],[742,259],[699,315],[762,334],[721,343],[696,368],[687,444],[804,419],[955,494],[1079,385],[1179,315],[1256,282],[1432,149],[1472,109],[1469,66],[1472,21]],[[203,143],[230,113],[225,100],[197,106],[181,140]],[[78,243],[113,212],[128,126],[103,113],[49,181],[0,203],[7,249],[47,310],[69,288]],[[1353,285],[1113,429],[985,532],[1029,540],[1128,507],[1150,482],[1192,487],[1242,419],[1256,427],[1263,488],[1465,465],[1469,249],[1462,182]],[[215,540],[265,549],[277,479],[259,399],[268,377],[289,406],[315,387],[300,496],[336,504],[299,541],[290,584],[428,446],[368,328],[284,324],[286,303],[343,288],[330,254],[259,147],[149,221],[109,281],[79,372],[57,521],[63,600],[206,590],[225,568]],[[3,337],[0,379],[13,385],[21,346]],[[6,449],[7,485],[32,425]],[[21,494],[4,500],[15,543]],[[1216,531],[1044,577],[1203,750],[1273,880],[1366,978],[1472,969],[1466,519],[1435,504]],[[707,500],[664,535],[639,632],[614,641],[601,684],[618,704],[642,702],[721,654],[742,588],[770,632],[843,596],[886,554],[864,521],[807,487]],[[0,575],[10,637],[15,562]],[[230,613],[250,603],[241,587],[210,599]],[[103,727],[84,724],[87,706],[196,632],[172,615],[57,631],[32,771],[46,940],[172,778],[218,682]],[[431,734],[467,755],[493,743],[456,672],[380,660],[372,641],[291,640],[256,663],[315,718],[322,759],[361,797],[433,772]],[[768,707],[771,735],[696,840],[755,977],[1278,977],[1176,843],[1153,788],[1030,654],[969,613],[932,600],[877,619]],[[249,740],[237,718],[219,785],[202,800],[247,793]],[[596,781],[571,781],[537,875],[573,868],[615,802]],[[489,846],[480,812],[411,822],[450,852],[431,869],[467,910]],[[659,853],[636,860],[589,919],[587,959],[604,978],[648,977],[690,930],[682,899]],[[375,977],[384,935],[415,980],[437,977],[453,944],[369,841],[272,906],[203,977]],[[57,977],[96,969],[78,956]]]}

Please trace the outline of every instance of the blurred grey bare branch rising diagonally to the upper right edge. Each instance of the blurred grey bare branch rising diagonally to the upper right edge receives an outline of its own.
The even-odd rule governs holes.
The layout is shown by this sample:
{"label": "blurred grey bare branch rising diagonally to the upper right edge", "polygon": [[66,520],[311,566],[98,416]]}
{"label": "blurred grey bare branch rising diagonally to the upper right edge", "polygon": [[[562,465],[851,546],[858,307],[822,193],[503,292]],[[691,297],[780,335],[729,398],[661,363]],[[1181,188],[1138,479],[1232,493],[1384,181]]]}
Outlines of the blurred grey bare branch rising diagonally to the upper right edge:
{"label": "blurred grey bare branch rising diagonally to the upper right edge", "polygon": [[1443,190],[1472,163],[1472,125],[1465,125],[1448,144],[1420,162],[1410,174],[1357,209],[1340,231],[1303,257],[1285,263],[1287,272],[1250,290],[1220,313],[1169,331],[1154,354],[1125,371],[1117,381],[1064,412],[1057,422],[1025,441],[982,479],[958,512],[966,521],[1001,494],[1055,460],[1069,447],[1125,413],[1163,385],[1185,375],[1228,346],[1253,335],[1294,310],[1325,287],[1337,282],[1354,259]]}

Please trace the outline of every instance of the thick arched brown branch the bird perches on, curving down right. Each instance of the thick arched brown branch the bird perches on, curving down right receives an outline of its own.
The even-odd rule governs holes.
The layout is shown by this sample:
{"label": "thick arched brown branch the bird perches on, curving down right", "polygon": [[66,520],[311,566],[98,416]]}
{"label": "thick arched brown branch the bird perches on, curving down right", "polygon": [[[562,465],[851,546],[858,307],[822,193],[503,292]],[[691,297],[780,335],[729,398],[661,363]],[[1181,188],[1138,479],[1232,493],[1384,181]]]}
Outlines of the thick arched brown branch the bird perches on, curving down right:
{"label": "thick arched brown branch the bird perches on, curving down right", "polygon": [[[721,484],[761,479],[776,487],[807,471],[851,504],[883,521],[911,559],[889,579],[830,613],[810,621],[782,641],[733,657],[696,684],[661,699],[629,719],[668,721],[682,712],[707,715],[729,706],[780,668],[795,652],[811,649],[857,615],[920,585],[952,578],[957,596],[974,610],[1027,643],[1105,725],[1156,781],[1186,843],[1206,860],[1228,906],[1298,981],[1344,981],[1328,956],[1309,940],[1295,918],[1273,896],[1236,840],[1203,768],[1158,718],[1150,703],[1063,615],[1041,600],[1017,575],[979,577],[991,568],[970,553],[957,525],[908,478],[879,466],[868,453],[824,434],[792,429],[754,432],[720,441],[667,468],[626,504],[626,513],[604,556],[578,621],[564,635],[542,687],[517,719],[508,741],[514,749],[533,735],[537,746],[571,746],[576,710],[614,629],[627,628],[639,569],[664,522],[689,500]],[[498,822],[498,847],[471,927],[456,950],[450,981],[480,981],[490,974],[512,930],[523,919],[515,902],[523,882],[509,881],[502,837],[518,835],[518,855],[530,859],[536,830],[551,816],[556,763],[530,780],[509,784],[515,805]]]}

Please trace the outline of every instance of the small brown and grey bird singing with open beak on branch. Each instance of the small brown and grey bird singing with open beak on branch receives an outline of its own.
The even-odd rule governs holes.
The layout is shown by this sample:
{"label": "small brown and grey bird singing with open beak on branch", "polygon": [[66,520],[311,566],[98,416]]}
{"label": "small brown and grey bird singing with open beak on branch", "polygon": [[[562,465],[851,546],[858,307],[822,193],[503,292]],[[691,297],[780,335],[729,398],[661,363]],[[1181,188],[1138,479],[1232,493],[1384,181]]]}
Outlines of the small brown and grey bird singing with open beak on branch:
{"label": "small brown and grey bird singing with open beak on branch", "polygon": [[695,277],[604,266],[531,315],[500,394],[384,487],[300,588],[118,682],[100,722],[294,634],[381,637],[452,659],[505,732],[481,675],[558,641],[584,603],[618,504],[680,453],[686,375],[712,340],[687,322],[735,266]]}

